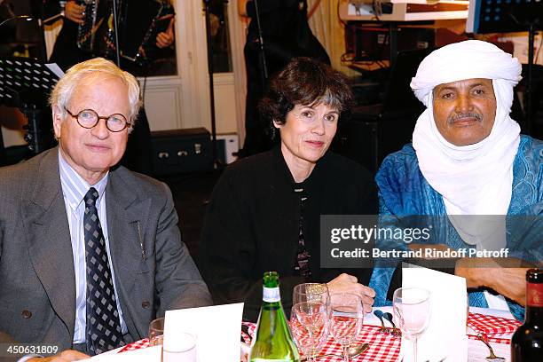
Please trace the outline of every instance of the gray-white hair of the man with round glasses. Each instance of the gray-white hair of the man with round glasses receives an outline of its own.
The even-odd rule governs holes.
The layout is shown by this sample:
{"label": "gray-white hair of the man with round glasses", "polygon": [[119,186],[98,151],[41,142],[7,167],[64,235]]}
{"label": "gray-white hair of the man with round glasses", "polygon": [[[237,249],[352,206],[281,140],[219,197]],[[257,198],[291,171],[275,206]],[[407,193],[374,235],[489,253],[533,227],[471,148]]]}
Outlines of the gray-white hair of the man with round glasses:
{"label": "gray-white hair of the man with round glasses", "polygon": [[123,71],[121,68],[115,66],[114,62],[104,58],[86,60],[69,68],[66,75],[59,80],[59,83],[55,85],[55,88],[51,92],[51,98],[49,99],[51,107],[57,106],[59,112],[63,116],[66,115],[67,105],[77,84],[83,81],[83,79],[100,74],[114,76],[128,87],[130,104],[129,121],[132,123],[130,125],[131,130],[138,117],[139,107],[141,106],[138,81],[134,75]]}

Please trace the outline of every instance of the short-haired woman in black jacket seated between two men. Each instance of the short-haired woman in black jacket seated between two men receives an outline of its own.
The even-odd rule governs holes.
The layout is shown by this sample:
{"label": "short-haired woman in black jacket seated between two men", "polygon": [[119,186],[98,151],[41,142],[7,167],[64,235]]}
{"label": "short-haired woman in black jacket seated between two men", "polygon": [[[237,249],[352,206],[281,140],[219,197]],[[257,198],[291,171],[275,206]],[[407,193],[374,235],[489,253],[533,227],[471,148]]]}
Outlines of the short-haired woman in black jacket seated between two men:
{"label": "short-haired woman in black jacket seated between two men", "polygon": [[374,291],[364,286],[371,270],[319,263],[320,215],[377,210],[371,174],[328,151],[350,102],[345,76],[313,59],[294,59],[271,80],[260,109],[280,145],[233,163],[209,203],[199,253],[215,303],[244,302],[244,318],[256,320],[263,272],[279,271],[286,311],[293,287],[306,281],[357,293],[371,310]]}

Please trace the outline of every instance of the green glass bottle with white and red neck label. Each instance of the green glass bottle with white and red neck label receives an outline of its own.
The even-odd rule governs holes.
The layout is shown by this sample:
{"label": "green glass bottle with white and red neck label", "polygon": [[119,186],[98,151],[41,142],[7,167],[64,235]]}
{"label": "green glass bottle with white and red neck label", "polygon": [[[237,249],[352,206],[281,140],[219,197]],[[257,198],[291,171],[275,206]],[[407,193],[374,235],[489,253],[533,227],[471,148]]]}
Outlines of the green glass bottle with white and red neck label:
{"label": "green glass bottle with white and red neck label", "polygon": [[262,307],[256,325],[256,337],[249,354],[250,362],[298,362],[300,354],[292,340],[287,317],[279,295],[279,274],[264,272]]}

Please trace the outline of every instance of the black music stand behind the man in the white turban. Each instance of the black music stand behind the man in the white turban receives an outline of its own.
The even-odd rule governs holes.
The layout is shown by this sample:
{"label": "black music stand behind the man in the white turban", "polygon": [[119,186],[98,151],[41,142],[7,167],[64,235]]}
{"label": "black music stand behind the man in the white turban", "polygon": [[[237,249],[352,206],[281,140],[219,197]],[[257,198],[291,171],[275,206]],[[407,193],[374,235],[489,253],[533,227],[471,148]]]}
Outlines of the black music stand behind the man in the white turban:
{"label": "black music stand behind the man in the white turban", "polygon": [[469,0],[466,32],[475,34],[528,31],[526,133],[531,133],[534,33],[543,29],[543,3],[531,0]]}

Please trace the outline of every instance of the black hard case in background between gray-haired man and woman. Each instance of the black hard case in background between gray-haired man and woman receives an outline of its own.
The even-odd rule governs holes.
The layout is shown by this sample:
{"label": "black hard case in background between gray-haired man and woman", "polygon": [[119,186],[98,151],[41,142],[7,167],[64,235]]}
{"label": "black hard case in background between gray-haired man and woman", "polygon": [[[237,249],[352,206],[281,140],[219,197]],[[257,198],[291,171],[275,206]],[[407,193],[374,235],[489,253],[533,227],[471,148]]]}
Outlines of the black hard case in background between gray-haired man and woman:
{"label": "black hard case in background between gray-haired man and woman", "polygon": [[151,132],[153,175],[169,176],[213,169],[209,131],[205,128]]}

